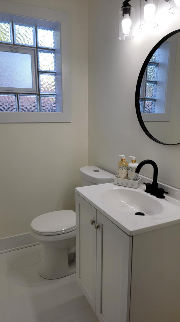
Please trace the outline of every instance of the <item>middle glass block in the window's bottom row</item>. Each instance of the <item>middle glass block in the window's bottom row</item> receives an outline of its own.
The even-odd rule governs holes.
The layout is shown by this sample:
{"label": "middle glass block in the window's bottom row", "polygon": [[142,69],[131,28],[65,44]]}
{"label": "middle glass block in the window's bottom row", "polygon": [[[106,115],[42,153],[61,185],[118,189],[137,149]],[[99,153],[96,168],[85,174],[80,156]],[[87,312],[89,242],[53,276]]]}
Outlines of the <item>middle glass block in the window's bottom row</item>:
{"label": "middle glass block in the window's bottom row", "polygon": [[19,95],[20,112],[38,112],[38,96]]}

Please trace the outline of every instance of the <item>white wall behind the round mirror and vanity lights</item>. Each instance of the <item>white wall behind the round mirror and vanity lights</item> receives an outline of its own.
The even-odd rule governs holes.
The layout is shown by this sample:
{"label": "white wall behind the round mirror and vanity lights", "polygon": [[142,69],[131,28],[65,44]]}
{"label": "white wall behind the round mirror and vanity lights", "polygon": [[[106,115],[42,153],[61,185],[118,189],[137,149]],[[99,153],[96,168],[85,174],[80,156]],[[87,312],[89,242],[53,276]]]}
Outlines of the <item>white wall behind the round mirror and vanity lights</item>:
{"label": "white wall behind the round mirror and vanity lights", "polygon": [[[140,128],[135,110],[137,78],[149,51],[167,33],[179,28],[179,16],[160,0],[159,26],[136,29],[131,41],[118,40],[119,0],[89,1],[88,164],[117,173],[119,154],[137,162],[157,162],[158,180],[180,188],[180,146],[163,146]],[[139,20],[139,0],[132,0]],[[171,158],[171,161],[169,160]],[[169,166],[170,163],[170,166]],[[140,172],[152,177],[152,167]]]}

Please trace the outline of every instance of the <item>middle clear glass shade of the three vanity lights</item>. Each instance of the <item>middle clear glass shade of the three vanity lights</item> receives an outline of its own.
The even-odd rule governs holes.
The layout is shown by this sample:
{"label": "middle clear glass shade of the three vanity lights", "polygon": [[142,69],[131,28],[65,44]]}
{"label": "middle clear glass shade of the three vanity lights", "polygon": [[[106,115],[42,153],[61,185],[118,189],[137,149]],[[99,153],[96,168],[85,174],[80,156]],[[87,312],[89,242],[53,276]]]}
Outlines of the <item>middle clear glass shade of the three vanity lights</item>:
{"label": "middle clear glass shade of the three vanity lights", "polygon": [[158,0],[140,0],[140,28],[150,29],[157,27],[158,9]]}

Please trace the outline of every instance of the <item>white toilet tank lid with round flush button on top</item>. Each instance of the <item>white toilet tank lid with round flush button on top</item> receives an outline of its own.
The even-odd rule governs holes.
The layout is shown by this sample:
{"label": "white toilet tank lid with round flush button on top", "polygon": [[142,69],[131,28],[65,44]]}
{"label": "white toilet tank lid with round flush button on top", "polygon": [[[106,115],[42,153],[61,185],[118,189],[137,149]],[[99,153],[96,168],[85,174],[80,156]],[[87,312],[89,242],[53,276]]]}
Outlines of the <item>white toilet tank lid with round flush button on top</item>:
{"label": "white toilet tank lid with round flush button on top", "polygon": [[79,169],[79,174],[82,178],[95,184],[103,184],[114,181],[115,175],[104,171],[96,166],[83,166]]}

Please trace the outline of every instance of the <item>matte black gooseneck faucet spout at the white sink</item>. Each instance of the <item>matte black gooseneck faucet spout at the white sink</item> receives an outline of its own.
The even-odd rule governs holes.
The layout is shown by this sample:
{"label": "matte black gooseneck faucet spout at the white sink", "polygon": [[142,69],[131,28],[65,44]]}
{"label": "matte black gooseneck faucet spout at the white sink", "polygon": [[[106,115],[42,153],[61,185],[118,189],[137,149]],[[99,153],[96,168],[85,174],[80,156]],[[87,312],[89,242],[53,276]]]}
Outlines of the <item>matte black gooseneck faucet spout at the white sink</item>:
{"label": "matte black gooseneck faucet spout at the white sink", "polygon": [[157,164],[153,160],[141,161],[140,164],[137,166],[135,172],[140,173],[140,169],[145,164],[151,164],[151,166],[153,166],[153,169],[154,169],[153,182],[152,182],[152,184],[148,184],[150,189],[147,189],[146,192],[150,192],[150,194],[152,194],[153,196],[156,196],[157,191],[158,191],[158,166],[157,166]]}

